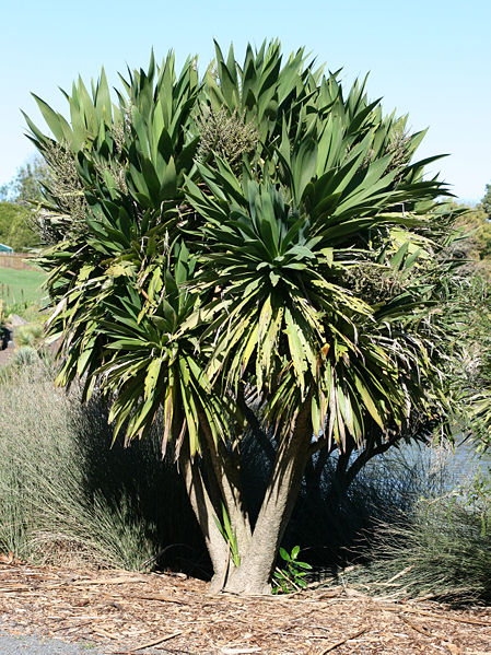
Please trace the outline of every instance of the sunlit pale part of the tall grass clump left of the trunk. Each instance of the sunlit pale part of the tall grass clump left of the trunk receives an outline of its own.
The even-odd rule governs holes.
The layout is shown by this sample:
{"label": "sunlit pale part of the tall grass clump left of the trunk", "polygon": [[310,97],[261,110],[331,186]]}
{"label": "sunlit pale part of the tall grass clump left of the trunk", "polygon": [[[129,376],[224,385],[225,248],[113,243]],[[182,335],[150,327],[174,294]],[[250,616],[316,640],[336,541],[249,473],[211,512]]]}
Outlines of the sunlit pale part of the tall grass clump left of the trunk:
{"label": "sunlit pale part of the tall grass clump left of the trunk", "polygon": [[39,563],[138,569],[152,554],[148,528],[131,524],[124,502],[86,493],[77,399],[52,388],[40,362],[20,364],[2,398],[0,550]]}

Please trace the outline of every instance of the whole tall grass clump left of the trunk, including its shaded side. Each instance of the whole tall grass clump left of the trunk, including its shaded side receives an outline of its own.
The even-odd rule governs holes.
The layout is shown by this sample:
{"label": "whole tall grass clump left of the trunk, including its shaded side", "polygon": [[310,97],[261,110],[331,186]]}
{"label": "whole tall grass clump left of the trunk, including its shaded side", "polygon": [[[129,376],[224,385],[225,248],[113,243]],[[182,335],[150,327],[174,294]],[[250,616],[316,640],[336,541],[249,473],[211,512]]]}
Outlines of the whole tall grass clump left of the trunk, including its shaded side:
{"label": "whole tall grass clump left of the trunk, including its shaded side", "polygon": [[[104,406],[83,406],[77,387],[69,395],[55,389],[52,370],[39,358],[16,365],[1,397],[0,552],[37,563],[142,570],[172,543],[169,525],[176,541],[184,539],[177,516],[186,523],[187,507],[179,506],[154,442],[110,451]],[[156,490],[162,479],[167,488]],[[160,492],[165,505],[155,500]],[[190,518],[187,557],[194,535],[196,546]]]}

